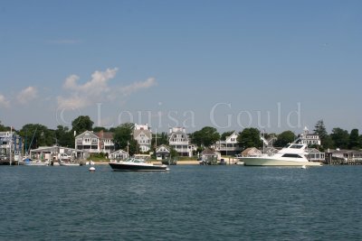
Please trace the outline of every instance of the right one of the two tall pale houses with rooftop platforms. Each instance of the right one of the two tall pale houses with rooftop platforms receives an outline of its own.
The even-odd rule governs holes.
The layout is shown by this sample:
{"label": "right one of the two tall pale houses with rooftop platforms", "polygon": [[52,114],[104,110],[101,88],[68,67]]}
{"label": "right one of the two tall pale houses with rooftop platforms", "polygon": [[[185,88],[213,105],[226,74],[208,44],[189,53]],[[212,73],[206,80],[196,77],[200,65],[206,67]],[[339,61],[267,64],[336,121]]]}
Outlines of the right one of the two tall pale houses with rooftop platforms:
{"label": "right one of the two tall pale houses with rooftop platforms", "polygon": [[191,157],[193,155],[192,145],[189,144],[186,129],[183,127],[173,127],[169,129],[168,143],[180,156]]}

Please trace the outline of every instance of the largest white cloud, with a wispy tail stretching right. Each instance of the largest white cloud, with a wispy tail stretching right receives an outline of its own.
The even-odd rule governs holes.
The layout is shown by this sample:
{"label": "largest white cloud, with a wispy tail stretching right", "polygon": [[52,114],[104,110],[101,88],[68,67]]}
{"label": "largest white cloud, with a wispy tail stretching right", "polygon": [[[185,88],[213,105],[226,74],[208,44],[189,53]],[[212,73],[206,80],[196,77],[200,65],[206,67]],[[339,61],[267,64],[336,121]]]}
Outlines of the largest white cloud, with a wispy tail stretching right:
{"label": "largest white cloud, with a wispy tail stretching right", "polygon": [[80,78],[77,75],[71,75],[65,79],[63,84],[63,88],[68,91],[69,95],[58,97],[58,107],[90,107],[95,103],[128,97],[138,89],[150,88],[156,84],[155,79],[147,79],[144,82],[135,82],[126,87],[110,87],[110,79],[116,77],[117,71],[117,68],[95,71],[91,75],[91,79],[84,84],[78,83]]}

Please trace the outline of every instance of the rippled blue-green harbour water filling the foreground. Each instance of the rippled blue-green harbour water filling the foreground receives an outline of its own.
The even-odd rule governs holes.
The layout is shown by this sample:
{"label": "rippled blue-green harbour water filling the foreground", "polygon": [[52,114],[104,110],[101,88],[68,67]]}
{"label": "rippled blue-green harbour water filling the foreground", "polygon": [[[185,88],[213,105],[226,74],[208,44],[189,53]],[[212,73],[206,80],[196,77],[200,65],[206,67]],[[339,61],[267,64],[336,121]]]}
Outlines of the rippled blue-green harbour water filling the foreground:
{"label": "rippled blue-green harbour water filling the foreground", "polygon": [[362,166],[0,166],[1,240],[362,240]]}

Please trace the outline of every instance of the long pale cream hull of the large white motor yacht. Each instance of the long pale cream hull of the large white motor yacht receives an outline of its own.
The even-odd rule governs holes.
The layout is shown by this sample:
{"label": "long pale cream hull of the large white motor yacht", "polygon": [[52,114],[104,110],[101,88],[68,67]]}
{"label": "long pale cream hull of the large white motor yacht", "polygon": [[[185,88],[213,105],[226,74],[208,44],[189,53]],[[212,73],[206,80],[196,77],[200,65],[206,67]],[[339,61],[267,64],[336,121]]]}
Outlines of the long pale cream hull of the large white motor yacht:
{"label": "long pale cream hull of the large white motor yacht", "polygon": [[245,166],[321,166],[320,162],[298,162],[258,157],[244,157],[242,161]]}

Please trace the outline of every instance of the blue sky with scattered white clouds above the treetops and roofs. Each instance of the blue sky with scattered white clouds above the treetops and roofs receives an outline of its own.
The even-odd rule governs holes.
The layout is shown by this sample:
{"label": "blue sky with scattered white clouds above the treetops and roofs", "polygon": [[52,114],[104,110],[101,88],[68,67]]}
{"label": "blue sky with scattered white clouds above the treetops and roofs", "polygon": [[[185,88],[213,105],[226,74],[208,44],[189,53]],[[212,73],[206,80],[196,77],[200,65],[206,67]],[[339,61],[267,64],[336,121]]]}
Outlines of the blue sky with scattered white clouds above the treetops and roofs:
{"label": "blue sky with scattered white clouds above the treetops and roofs", "polygon": [[0,121],[362,130],[361,1],[0,1]]}

